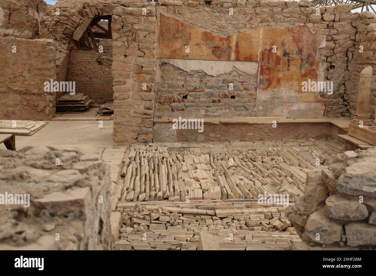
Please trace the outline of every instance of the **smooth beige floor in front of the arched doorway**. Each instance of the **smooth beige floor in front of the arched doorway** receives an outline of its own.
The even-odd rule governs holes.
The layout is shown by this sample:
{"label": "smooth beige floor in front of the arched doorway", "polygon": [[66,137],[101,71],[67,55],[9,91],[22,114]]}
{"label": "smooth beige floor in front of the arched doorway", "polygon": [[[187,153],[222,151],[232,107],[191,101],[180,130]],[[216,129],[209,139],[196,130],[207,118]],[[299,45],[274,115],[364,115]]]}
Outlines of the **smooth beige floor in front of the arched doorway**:
{"label": "smooth beige floor in front of the arched doorway", "polygon": [[[32,136],[16,136],[16,148],[24,146],[67,146],[77,147],[83,153],[95,152],[98,148],[112,147],[113,121],[50,121]],[[0,148],[5,149],[1,144]]]}

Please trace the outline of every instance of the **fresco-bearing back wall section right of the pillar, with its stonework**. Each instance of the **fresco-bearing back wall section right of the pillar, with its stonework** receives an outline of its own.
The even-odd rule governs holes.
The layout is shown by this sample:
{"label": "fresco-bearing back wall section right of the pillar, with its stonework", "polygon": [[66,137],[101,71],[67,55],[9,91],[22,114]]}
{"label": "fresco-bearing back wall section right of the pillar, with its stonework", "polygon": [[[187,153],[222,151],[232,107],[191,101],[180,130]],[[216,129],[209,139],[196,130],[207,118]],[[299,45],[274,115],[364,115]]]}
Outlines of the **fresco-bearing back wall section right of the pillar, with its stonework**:
{"label": "fresco-bearing back wall section right of the pillar, with its stonework", "polygon": [[[308,1],[167,3],[171,5],[157,7],[156,115],[350,116],[342,98],[344,80],[350,77],[346,52],[353,48],[356,32],[352,22],[359,17],[350,13],[351,5],[316,9]],[[244,70],[253,63],[256,70]],[[217,75],[220,68],[227,70]],[[256,78],[257,83],[247,85],[234,75]],[[301,83],[309,78],[333,81],[333,95],[302,92]],[[224,105],[228,95],[233,97]]]}

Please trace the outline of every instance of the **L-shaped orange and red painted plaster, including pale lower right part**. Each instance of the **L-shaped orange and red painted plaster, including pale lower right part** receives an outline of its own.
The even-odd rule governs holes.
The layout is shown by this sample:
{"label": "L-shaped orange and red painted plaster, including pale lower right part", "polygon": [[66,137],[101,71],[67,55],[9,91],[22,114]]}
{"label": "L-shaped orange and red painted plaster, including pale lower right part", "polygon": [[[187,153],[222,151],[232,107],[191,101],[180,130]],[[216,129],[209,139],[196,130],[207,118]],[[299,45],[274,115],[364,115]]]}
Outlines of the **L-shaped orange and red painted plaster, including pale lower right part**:
{"label": "L-shaped orange and red painted plaster, including pale lower right part", "polygon": [[324,78],[318,50],[325,37],[308,26],[256,27],[224,37],[162,13],[158,23],[158,58],[257,62],[256,116],[325,116],[320,92],[302,90],[303,81]]}

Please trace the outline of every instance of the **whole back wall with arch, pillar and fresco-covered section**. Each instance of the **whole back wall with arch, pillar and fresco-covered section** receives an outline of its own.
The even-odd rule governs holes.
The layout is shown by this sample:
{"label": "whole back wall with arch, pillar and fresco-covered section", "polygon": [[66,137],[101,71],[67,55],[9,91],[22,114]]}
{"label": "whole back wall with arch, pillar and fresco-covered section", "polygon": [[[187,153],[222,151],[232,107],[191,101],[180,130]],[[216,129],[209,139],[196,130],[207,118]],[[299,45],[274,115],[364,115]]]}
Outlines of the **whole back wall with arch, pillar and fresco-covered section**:
{"label": "whole back wall with arch, pillar and fresco-covered section", "polygon": [[[64,80],[77,26],[89,17],[114,16],[115,143],[150,142],[154,113],[351,116],[356,89],[349,62],[355,35],[364,32],[362,17],[351,5],[309,5],[63,0],[45,12],[40,37],[56,41],[57,76]],[[333,94],[303,91],[302,81],[309,80],[332,81]]]}

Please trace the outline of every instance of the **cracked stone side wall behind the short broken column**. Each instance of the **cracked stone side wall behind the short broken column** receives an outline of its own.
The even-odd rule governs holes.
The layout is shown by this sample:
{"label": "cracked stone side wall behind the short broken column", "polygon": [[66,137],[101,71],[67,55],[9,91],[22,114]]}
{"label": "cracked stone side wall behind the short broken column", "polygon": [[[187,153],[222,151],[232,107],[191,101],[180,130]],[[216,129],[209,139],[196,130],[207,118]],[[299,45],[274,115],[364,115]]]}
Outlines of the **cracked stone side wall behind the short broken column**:
{"label": "cracked stone side wall behind the short broken column", "polygon": [[[376,63],[376,16],[373,12],[362,12],[356,22],[355,47],[347,52],[349,56],[348,68],[351,71],[351,78],[346,81],[346,94],[344,99],[352,117],[356,114],[358,99],[359,74],[367,66],[374,67]],[[370,118],[374,119],[376,107],[376,71],[373,73],[370,98]]]}

